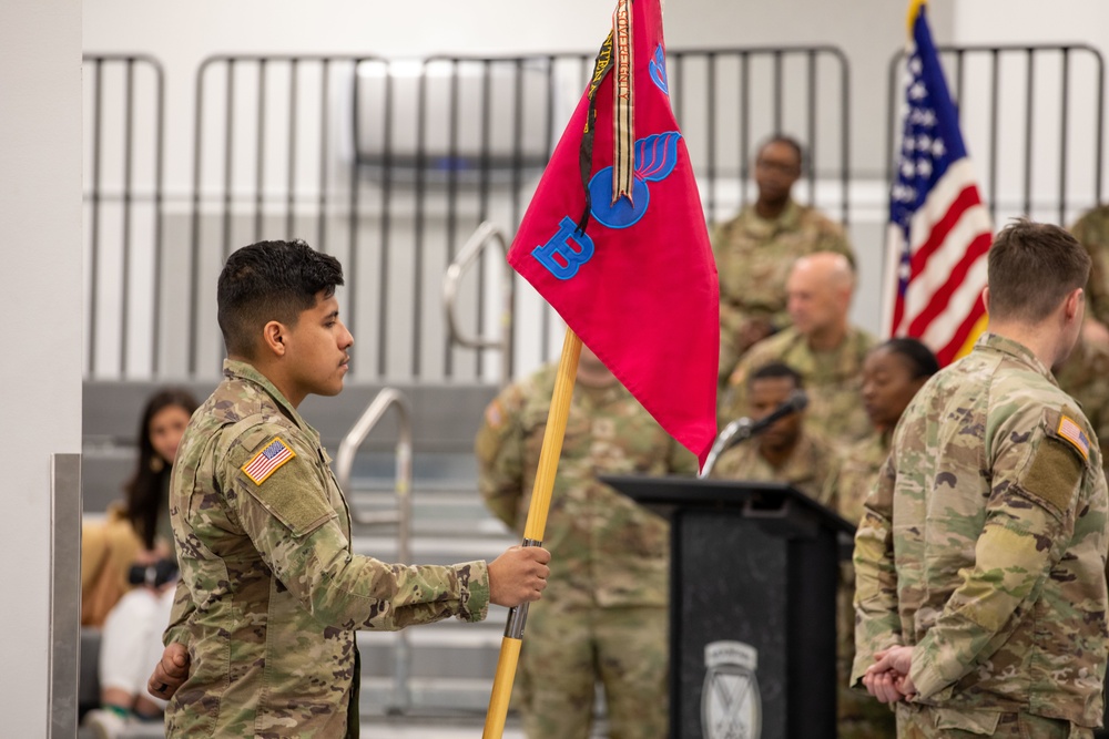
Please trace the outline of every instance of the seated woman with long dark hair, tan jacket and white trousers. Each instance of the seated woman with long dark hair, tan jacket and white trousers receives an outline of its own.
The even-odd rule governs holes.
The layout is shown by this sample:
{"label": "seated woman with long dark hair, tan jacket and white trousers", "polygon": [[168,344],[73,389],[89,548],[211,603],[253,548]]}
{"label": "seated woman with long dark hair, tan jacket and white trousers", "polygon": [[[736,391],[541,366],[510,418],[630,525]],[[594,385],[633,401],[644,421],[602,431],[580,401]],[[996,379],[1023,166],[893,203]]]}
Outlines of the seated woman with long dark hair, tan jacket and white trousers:
{"label": "seated woman with long dark hair, tan jacket and white trousers", "polygon": [[[100,643],[103,708],[87,717],[87,725],[102,738],[114,736],[132,717],[160,718],[165,707],[146,695],[146,678],[162,656],[176,581],[170,472],[195,410],[196,401],[183,390],[162,390],[146,402],[138,468],[124,487],[123,505],[113,506],[101,527],[83,527],[87,537],[94,533],[82,543],[82,555],[90,561],[82,563],[82,586],[88,568],[94,587],[82,592],[82,620],[92,622],[98,610],[108,610]],[[109,603],[113,595],[114,604]]]}

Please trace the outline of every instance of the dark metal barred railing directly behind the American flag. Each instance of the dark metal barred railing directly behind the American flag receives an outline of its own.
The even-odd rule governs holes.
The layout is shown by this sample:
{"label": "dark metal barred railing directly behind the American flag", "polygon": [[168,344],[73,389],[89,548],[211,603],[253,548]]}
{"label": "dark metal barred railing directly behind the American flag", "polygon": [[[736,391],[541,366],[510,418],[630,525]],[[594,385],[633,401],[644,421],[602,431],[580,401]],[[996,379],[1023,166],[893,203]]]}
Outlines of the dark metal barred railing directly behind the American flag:
{"label": "dark metal barred railing directly behind the American flag", "polygon": [[[1105,62],[1097,49],[1072,43],[936,50],[996,225],[1013,215],[1068,225],[1080,211],[1101,202]],[[904,51],[889,62],[891,181],[901,136],[904,64]],[[1051,79],[1055,82],[1044,83]]]}

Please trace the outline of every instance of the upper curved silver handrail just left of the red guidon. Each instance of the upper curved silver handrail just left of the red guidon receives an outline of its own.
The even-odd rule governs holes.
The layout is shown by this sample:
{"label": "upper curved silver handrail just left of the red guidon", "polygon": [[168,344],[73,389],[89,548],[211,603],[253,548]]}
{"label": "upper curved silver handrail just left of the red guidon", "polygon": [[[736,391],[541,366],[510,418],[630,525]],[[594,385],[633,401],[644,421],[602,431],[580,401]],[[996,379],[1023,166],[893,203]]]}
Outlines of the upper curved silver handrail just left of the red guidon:
{"label": "upper curved silver handrail just left of the red guidon", "polygon": [[[501,383],[508,384],[512,380],[512,308],[516,301],[516,287],[512,281],[512,270],[505,268],[501,276],[501,299],[502,311],[500,317],[500,338],[491,339],[478,336],[467,337],[458,325],[455,315],[455,306],[458,299],[458,284],[462,274],[474,264],[475,260],[486,250],[491,240],[500,244],[501,252],[508,257],[508,238],[499,226],[490,220],[482,222],[477,230],[467,239],[462,248],[459,249],[447,273],[442,276],[442,305],[447,311],[447,326],[450,330],[450,338],[456,343],[470,349],[500,349],[501,355]],[[480,296],[479,298],[480,299]]]}

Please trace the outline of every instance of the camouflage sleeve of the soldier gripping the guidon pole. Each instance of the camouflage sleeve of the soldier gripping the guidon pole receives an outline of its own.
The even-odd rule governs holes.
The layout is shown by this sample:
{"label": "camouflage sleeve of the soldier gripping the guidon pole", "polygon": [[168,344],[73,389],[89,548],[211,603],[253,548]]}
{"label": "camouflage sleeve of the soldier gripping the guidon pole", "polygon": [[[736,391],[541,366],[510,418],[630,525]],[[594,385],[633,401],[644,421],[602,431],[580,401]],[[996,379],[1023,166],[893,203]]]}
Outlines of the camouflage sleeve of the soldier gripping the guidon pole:
{"label": "camouflage sleeve of the soldier gripping the guidon pole", "polygon": [[265,427],[244,433],[230,449],[220,482],[262,560],[315,618],[336,627],[394,630],[451,615],[485,617],[485,562],[410,566],[354,554],[326,497],[334,483],[307,442],[291,435],[286,441],[296,455],[255,482],[242,468],[273,440]]}

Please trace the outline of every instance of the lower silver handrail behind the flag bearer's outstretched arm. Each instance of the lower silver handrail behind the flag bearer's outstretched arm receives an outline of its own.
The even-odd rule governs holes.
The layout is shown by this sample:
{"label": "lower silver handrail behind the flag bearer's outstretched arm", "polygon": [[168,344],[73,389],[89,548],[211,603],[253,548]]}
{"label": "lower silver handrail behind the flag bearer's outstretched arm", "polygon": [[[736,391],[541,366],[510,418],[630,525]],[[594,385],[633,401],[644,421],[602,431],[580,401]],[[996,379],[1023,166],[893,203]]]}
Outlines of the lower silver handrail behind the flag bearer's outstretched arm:
{"label": "lower silver handrail behind the flag bearer's outstretched arm", "polygon": [[[411,403],[405,393],[394,388],[384,388],[366,408],[362,418],[352,427],[335,455],[335,478],[340,489],[348,490],[350,471],[358,448],[374,430],[385,412],[396,407],[399,430],[396,445],[396,483],[397,510],[384,513],[359,513],[350,506],[350,517],[355,523],[397,525],[397,560],[407,564],[411,560],[411,489],[413,489],[413,412]],[[408,632],[397,633],[396,648],[393,654],[393,708],[404,711],[411,705],[408,678],[411,674],[411,649],[408,644]]]}

